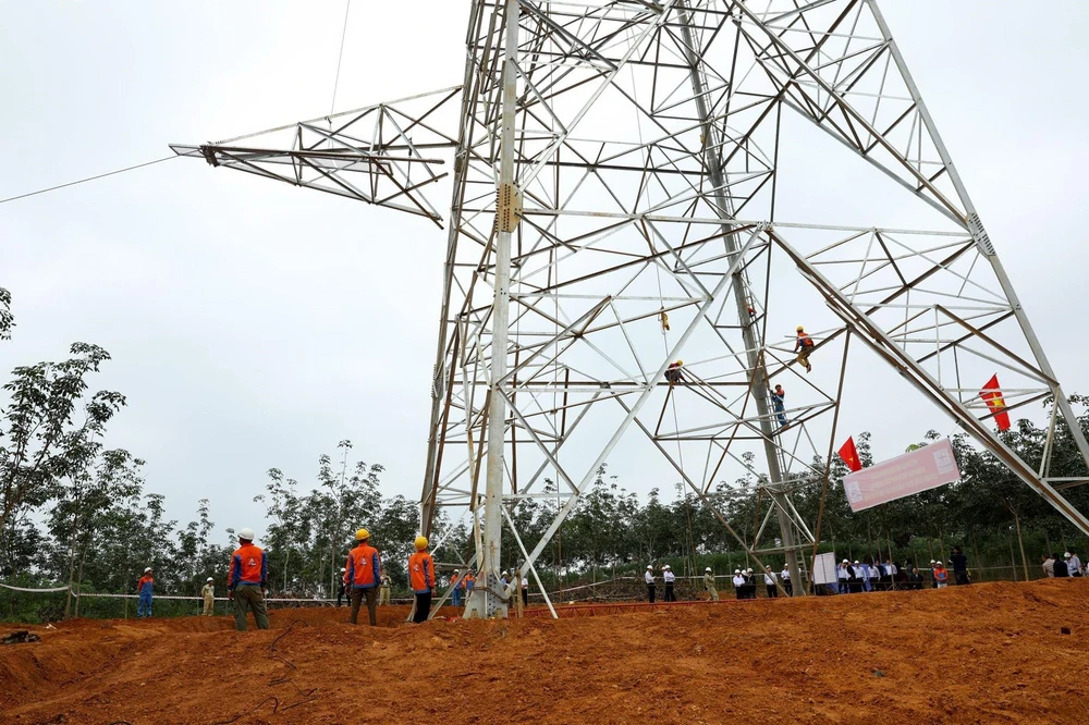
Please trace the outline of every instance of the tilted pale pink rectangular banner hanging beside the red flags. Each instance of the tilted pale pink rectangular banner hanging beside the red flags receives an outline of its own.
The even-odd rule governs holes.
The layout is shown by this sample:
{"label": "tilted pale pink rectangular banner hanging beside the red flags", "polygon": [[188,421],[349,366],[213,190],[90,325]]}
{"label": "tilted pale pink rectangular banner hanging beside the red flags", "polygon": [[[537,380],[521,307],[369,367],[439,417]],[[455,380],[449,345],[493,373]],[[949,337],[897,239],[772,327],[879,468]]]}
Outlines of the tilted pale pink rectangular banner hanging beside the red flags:
{"label": "tilted pale pink rectangular banner hanging beside the red flags", "polygon": [[851,511],[865,511],[937,489],[959,478],[953,445],[947,438],[943,438],[937,443],[847,475],[843,479],[843,492],[847,495]]}

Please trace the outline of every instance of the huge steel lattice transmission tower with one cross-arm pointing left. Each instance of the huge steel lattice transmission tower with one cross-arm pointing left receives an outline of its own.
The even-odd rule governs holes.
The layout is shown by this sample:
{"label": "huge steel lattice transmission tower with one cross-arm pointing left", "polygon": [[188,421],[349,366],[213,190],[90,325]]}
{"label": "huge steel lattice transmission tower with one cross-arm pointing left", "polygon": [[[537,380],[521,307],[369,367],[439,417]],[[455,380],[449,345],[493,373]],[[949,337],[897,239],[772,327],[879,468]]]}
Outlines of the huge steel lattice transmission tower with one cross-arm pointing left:
{"label": "huge steel lattice transmission tower with one cross-arm pointing left", "polygon": [[[469,615],[505,614],[501,556],[536,577],[612,455],[804,581],[792,493],[824,472],[867,349],[1089,534],[1056,490],[1089,477],[1051,478],[992,428],[1051,396],[1051,437],[1075,418],[874,0],[468,4],[461,86],[174,148],[446,225],[420,505],[425,533],[439,511],[473,532]],[[872,171],[840,196],[881,186],[897,223],[806,206],[797,177],[827,165],[784,159],[817,137]],[[770,502],[755,534],[719,512],[737,476]],[[534,540],[529,499],[555,502]]]}

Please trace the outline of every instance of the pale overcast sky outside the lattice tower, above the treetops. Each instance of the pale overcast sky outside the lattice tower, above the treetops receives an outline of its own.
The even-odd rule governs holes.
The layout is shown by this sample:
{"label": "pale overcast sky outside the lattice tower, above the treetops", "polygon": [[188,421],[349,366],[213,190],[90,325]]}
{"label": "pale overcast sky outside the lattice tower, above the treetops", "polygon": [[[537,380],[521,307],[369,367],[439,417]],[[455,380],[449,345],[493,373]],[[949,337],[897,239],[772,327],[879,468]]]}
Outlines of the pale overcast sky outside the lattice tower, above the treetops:
{"label": "pale overcast sky outside the lattice tower, above the treetops", "polygon": [[[337,110],[461,82],[468,2],[408,4],[352,3]],[[1089,343],[1069,324],[1089,262],[1089,5],[1050,3],[1047,22],[1013,0],[882,8],[1060,379],[1089,392]],[[330,109],[341,1],[0,9],[0,198]],[[107,348],[91,384],[129,397],[107,443],[147,459],[183,523],[207,497],[220,529],[260,529],[265,471],[309,483],[345,438],[387,467],[387,495],[416,500],[444,241],[417,218],[192,160],[5,204],[0,285],[19,327],[0,370],[74,341]],[[888,457],[950,428],[927,410],[845,410],[841,426],[873,431]],[[640,493],[662,486],[612,469]]]}

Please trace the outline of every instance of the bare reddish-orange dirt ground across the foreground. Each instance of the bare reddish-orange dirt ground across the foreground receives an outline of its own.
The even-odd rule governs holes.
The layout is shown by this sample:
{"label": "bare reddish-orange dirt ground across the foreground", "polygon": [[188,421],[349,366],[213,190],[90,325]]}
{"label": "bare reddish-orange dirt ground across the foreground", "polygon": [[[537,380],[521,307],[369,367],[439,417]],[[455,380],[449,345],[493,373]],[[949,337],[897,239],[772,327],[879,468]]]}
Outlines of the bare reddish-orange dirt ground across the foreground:
{"label": "bare reddish-orange dirt ground across the foreground", "polygon": [[392,607],[374,629],[291,610],[246,634],[76,620],[0,647],[0,723],[1082,723],[1087,595],[1066,579],[423,626]]}

